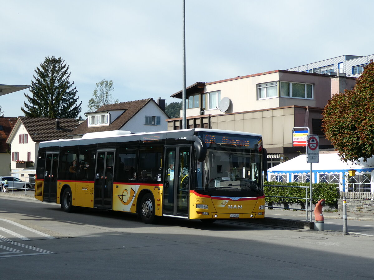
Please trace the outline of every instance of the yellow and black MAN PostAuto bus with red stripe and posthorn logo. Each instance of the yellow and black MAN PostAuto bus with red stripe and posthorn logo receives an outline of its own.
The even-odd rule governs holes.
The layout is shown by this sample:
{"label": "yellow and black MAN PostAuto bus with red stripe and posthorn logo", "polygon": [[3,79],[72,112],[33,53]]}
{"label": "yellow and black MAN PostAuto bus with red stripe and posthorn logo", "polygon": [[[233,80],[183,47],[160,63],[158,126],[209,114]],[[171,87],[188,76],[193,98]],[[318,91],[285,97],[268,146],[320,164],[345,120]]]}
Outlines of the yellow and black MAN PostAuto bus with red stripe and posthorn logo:
{"label": "yellow and black MAN PostAuto bus with red stripe and posthorn logo", "polygon": [[160,217],[264,218],[259,134],[188,129],[108,131],[41,142],[35,198],[65,212],[99,208]]}

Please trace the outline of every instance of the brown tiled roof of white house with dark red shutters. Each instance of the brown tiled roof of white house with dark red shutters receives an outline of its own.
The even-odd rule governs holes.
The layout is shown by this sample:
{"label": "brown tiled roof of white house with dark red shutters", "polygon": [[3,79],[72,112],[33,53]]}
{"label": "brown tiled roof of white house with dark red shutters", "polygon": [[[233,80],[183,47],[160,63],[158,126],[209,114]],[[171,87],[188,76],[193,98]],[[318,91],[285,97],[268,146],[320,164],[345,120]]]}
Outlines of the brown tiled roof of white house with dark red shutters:
{"label": "brown tiled roof of white house with dark red shutters", "polygon": [[71,131],[78,126],[76,119],[58,119],[60,129],[56,129],[56,118],[19,117],[34,142],[71,139]]}

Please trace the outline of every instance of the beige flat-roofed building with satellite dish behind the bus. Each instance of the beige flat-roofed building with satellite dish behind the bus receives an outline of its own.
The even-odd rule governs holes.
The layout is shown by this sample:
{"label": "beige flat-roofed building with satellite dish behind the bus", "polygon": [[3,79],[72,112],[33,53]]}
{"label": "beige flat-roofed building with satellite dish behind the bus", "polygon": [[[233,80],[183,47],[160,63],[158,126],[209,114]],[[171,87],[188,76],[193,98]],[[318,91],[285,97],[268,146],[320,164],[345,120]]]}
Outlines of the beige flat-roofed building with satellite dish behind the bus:
{"label": "beige flat-roofed building with satellite dish behind the bus", "polygon": [[[332,148],[321,129],[322,110],[333,94],[354,85],[355,78],[285,70],[198,82],[186,89],[187,128],[262,134],[275,165],[284,156],[305,152],[305,148],[292,147],[294,127],[309,127],[310,134],[320,136],[321,149]],[[172,97],[181,98],[181,94]],[[168,119],[168,130],[181,126],[181,118]]]}

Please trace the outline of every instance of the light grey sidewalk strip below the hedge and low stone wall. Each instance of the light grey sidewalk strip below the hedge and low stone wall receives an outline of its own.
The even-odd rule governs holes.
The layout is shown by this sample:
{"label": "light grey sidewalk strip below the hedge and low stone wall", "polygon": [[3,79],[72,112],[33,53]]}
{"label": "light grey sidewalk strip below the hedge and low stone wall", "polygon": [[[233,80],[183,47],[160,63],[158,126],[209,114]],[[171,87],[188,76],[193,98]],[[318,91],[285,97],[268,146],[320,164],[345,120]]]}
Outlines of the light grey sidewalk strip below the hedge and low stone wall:
{"label": "light grey sidewalk strip below the hedge and low stone wall", "polygon": [[[323,212],[324,219],[343,219],[343,212]],[[297,219],[306,221],[305,211],[283,210],[283,209],[265,209],[265,217]],[[310,214],[309,214],[310,218]],[[314,221],[314,212],[312,219]],[[350,213],[347,212],[347,220],[374,221],[374,213]]]}

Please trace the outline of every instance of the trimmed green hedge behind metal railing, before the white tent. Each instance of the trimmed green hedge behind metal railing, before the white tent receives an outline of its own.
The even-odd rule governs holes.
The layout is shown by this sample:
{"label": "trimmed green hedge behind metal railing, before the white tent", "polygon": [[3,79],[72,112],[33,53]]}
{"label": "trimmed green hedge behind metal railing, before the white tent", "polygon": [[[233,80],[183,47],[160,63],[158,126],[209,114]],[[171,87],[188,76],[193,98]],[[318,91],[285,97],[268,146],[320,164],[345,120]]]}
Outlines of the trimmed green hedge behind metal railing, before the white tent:
{"label": "trimmed green hedge behind metal railing, before the white tent", "polygon": [[[279,186],[308,186],[309,183],[288,182],[281,183],[275,181],[264,181],[264,185]],[[269,187],[264,186],[265,196],[289,196],[289,197],[305,197],[304,188],[288,188],[288,187]],[[309,188],[308,188],[309,197]],[[339,189],[336,184],[315,183],[312,184],[312,203],[316,204],[319,199],[325,199],[326,204],[334,205],[338,203]],[[305,203],[305,199],[281,198],[281,197],[265,197],[267,203]]]}

